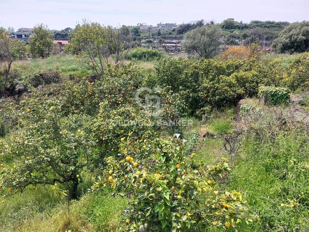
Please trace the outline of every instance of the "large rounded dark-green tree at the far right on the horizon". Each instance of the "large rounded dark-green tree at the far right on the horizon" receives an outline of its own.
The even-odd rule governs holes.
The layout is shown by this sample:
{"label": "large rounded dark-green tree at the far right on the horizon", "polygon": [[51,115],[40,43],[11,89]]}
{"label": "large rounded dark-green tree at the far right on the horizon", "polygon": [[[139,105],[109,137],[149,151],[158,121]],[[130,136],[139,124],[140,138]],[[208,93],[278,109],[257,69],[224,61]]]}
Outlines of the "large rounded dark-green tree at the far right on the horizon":
{"label": "large rounded dark-green tree at the far right on the horizon", "polygon": [[274,40],[273,47],[279,53],[309,51],[309,21],[287,26]]}

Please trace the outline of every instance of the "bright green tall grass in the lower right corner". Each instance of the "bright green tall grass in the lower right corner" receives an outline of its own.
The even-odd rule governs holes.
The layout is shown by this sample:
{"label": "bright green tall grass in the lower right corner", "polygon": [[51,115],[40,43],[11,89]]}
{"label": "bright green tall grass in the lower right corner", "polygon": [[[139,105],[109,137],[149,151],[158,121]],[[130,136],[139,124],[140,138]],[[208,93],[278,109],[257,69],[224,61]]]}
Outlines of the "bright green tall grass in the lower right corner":
{"label": "bright green tall grass in the lower right corner", "polygon": [[[260,217],[250,226],[252,231],[308,228],[309,172],[301,168],[309,161],[308,151],[302,136],[243,142],[228,182],[231,189],[245,193],[251,212]],[[302,192],[304,197],[300,197]],[[288,207],[289,199],[299,200],[301,205]]]}

